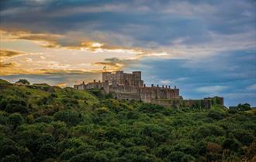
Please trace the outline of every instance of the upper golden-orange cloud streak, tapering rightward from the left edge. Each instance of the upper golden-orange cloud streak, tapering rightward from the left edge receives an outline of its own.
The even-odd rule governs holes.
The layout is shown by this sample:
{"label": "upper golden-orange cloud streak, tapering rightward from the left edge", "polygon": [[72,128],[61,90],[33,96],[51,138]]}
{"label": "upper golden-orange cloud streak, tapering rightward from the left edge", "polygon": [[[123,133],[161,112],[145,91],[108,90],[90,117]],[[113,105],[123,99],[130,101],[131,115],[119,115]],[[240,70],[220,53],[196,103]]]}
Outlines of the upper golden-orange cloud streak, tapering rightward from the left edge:
{"label": "upper golden-orange cloud streak, tapering rightward from the left edge", "polygon": [[[24,39],[38,43],[46,48],[63,48],[88,50],[92,52],[138,52],[137,49],[129,49],[122,46],[109,46],[101,42],[85,40],[86,38],[74,38],[72,35],[57,35],[50,33],[35,33],[19,30],[0,29],[2,40]],[[71,36],[71,37],[69,37]],[[83,40],[84,39],[84,40]]]}

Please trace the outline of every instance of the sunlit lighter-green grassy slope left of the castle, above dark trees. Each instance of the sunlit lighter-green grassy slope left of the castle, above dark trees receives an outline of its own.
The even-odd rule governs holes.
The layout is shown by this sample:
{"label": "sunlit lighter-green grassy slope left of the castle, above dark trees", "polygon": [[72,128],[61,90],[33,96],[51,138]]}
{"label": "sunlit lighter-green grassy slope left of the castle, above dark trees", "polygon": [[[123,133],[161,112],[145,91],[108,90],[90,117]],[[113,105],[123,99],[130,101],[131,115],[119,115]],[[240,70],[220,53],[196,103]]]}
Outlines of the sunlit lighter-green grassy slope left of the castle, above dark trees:
{"label": "sunlit lighter-green grassy slope left of the castle, above dark trees", "polygon": [[95,103],[99,103],[99,99],[92,93],[70,87],[62,89],[58,86],[49,86],[46,84],[18,86],[8,84],[8,82],[2,79],[0,81],[0,97],[5,100],[26,100],[27,105],[32,106],[33,110],[47,109],[47,106],[61,108],[65,104],[63,100],[77,100],[80,109],[85,109],[88,106],[90,107]]}

